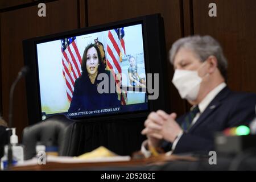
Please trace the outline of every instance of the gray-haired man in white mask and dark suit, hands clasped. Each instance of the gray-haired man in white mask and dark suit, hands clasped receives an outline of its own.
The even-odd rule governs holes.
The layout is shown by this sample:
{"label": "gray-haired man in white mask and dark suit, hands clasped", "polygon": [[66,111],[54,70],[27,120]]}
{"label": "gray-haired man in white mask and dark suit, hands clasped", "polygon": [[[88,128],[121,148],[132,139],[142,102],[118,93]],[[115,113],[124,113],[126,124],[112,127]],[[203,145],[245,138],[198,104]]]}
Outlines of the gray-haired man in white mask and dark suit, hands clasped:
{"label": "gray-haired man in white mask and dark suit, hands clasped", "polygon": [[207,152],[213,150],[216,131],[247,125],[253,120],[256,94],[232,92],[228,88],[228,63],[220,44],[212,37],[177,40],[170,50],[170,61],[175,69],[172,83],[181,98],[192,105],[191,111],[177,119],[176,113],[150,113],[142,130],[147,136],[142,144],[144,154],[150,155],[148,148],[156,147],[174,153]]}

